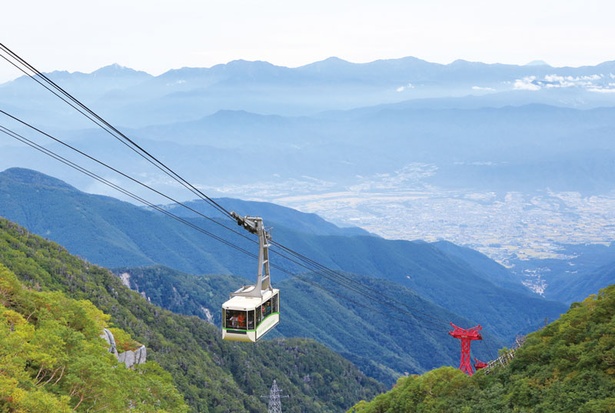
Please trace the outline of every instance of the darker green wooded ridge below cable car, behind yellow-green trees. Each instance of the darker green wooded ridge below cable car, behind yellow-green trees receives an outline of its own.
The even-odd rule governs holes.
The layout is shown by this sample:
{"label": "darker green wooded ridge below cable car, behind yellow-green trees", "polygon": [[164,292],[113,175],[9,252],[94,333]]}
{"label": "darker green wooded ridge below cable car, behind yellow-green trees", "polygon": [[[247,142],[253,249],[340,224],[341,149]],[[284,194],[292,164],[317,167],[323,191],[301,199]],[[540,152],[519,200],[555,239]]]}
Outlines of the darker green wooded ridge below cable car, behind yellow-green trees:
{"label": "darker green wooded ridge below cable car, behind yellow-green trees", "polygon": [[288,412],[338,412],[383,390],[313,341],[223,342],[216,327],[149,304],[108,270],[5,219],[0,219],[0,263],[27,288],[87,299],[109,314],[111,326],[143,343],[148,359],[171,374],[193,412],[265,412],[261,395],[269,393],[273,380],[292,395],[284,404]]}

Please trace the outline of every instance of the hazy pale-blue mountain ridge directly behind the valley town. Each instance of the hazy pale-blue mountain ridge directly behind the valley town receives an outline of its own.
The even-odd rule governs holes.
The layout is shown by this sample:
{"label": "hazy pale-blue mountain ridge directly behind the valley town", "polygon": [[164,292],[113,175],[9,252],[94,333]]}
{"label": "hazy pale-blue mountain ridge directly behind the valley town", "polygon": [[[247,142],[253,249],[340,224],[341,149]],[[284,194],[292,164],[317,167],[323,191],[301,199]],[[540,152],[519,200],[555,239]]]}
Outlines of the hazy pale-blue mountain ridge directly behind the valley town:
{"label": "hazy pale-blue mountain ridge directly behind the valley town", "polygon": [[[274,199],[349,188],[388,192],[435,187],[597,194],[614,189],[615,148],[610,133],[614,119],[612,108],[534,105],[460,110],[402,105],[317,118],[218,112],[131,135],[147,137],[140,144],[155,148],[170,164],[181,160],[183,174],[210,193],[247,191],[251,197]],[[63,136],[103,162],[160,182],[162,190],[174,196],[186,196],[107,134],[82,130]],[[41,143],[75,158],[60,145]],[[87,185],[31,148],[12,145],[3,150],[5,167],[36,168]],[[411,168],[418,169],[405,176]],[[383,182],[395,175],[399,179],[394,187],[393,182],[388,186]]]}

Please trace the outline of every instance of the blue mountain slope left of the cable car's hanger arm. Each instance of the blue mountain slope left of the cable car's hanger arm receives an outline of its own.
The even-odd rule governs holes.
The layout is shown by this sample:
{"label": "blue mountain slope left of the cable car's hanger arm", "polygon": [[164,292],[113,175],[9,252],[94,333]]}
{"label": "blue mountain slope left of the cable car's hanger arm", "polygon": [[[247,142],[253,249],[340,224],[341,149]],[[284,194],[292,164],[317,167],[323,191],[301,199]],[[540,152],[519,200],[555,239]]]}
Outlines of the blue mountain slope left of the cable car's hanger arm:
{"label": "blue mountain slope left of the cable car's hanger arm", "polygon": [[[3,216],[95,264],[118,267],[164,262],[194,273],[229,273],[226,264],[234,261],[211,238],[133,204],[91,196],[29,170],[11,169],[2,176]],[[220,231],[214,224],[204,225],[213,233]]]}

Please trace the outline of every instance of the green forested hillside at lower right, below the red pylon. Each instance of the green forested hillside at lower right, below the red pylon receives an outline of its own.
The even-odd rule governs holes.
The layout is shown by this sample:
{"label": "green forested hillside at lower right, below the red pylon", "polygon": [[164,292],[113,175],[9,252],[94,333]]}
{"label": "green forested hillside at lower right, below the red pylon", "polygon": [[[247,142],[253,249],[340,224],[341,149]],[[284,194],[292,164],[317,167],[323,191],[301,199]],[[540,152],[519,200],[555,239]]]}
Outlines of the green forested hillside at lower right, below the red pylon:
{"label": "green forested hillside at lower right, below the red pylon", "polygon": [[403,377],[390,392],[349,410],[470,411],[615,411],[615,285],[574,303],[559,320],[528,335],[506,366],[472,377],[452,367]]}

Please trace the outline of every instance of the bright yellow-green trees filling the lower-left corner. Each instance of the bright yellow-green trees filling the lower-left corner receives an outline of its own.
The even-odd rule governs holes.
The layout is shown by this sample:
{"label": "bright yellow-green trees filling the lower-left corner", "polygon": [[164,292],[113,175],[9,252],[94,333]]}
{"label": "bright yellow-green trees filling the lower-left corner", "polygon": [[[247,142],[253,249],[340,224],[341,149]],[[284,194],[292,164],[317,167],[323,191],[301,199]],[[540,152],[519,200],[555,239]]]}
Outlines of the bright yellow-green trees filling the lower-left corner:
{"label": "bright yellow-green trees filling the lower-left corner", "polygon": [[129,369],[109,352],[108,321],[89,301],[24,288],[0,264],[0,411],[187,412],[157,363]]}

